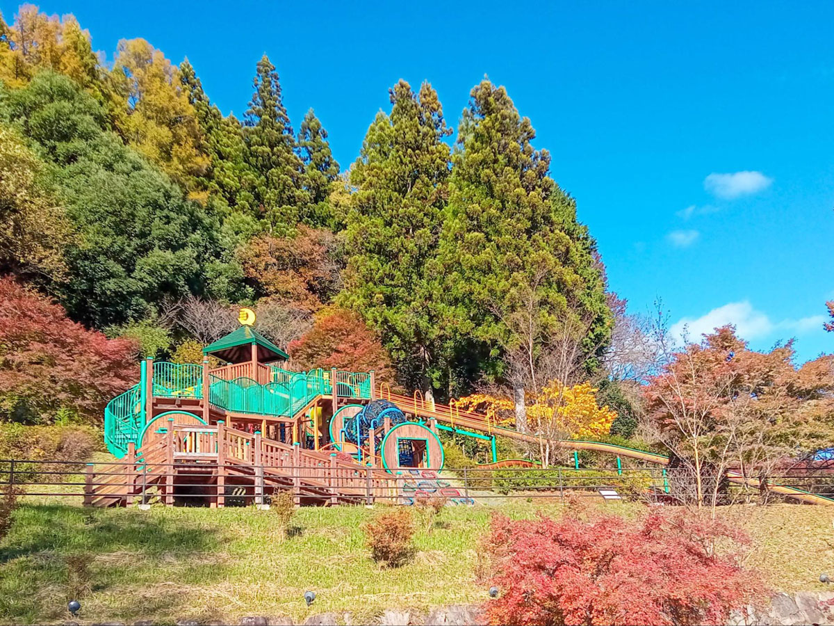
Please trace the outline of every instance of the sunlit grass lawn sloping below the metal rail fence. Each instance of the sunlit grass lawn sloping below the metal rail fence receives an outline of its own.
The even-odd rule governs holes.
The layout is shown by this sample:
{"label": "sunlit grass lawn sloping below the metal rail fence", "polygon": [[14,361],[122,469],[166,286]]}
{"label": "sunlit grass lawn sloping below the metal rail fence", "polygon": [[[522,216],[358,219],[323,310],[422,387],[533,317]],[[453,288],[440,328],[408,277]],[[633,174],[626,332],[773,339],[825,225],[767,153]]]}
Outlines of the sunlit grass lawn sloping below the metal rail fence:
{"label": "sunlit grass lawn sloping below the metal rail fence", "polygon": [[[634,515],[640,505],[605,505]],[[511,517],[557,504],[514,501]],[[487,599],[476,577],[476,546],[490,507],[446,507],[416,537],[417,552],[402,568],[384,570],[368,556],[361,526],[365,507],[299,509],[297,531],[284,538],[274,512],[254,508],[152,507],[85,509],[53,501],[26,502],[0,543],[0,623],[56,622],[67,617],[68,560],[89,553],[83,623],[178,618],[237,623],[244,615],[353,613],[367,621],[384,608],[430,608]],[[823,507],[735,507],[722,514],[746,528],[755,549],[749,564],[765,583],[793,591],[821,588],[834,573],[831,512]],[[82,581],[82,587],[84,581]],[[317,594],[306,608],[306,590]]]}

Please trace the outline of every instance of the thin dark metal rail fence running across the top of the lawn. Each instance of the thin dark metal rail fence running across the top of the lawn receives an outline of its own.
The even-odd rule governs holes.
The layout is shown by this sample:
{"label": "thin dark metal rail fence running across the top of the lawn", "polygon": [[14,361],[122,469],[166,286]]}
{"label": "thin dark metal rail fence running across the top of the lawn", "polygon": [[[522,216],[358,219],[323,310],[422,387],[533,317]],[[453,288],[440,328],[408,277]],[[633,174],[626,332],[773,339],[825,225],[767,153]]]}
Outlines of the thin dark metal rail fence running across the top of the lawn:
{"label": "thin dark metal rail fence running across the top of the lawn", "polygon": [[[164,502],[186,506],[267,504],[275,494],[290,492],[296,504],[413,504],[445,498],[450,504],[500,502],[518,498],[565,502],[567,497],[594,497],[648,502],[681,502],[686,488],[680,477],[662,468],[573,469],[480,468],[447,469],[442,473],[403,467],[386,473],[372,467],[322,464],[246,465],[226,462],[78,462],[28,459],[0,460],[0,494],[23,492],[28,497],[85,505],[128,506]],[[804,477],[768,478],[804,492],[830,497],[831,476],[808,472]],[[743,487],[723,492],[735,497]],[[678,491],[678,493],[676,493]],[[755,489],[746,489],[746,493]],[[729,495],[728,495],[729,494]]]}

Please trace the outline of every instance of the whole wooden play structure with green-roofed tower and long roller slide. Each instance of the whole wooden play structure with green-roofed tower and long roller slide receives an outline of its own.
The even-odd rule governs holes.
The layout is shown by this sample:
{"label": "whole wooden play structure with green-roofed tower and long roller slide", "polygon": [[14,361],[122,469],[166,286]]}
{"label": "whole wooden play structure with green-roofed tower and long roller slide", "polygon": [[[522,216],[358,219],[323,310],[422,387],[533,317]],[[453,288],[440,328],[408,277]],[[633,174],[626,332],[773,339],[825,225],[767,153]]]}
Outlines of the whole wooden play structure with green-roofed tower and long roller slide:
{"label": "whole wooden play structure with green-roofed tower and long roller slide", "polygon": [[[203,355],[199,365],[142,361],[138,383],[108,403],[105,442],[120,462],[115,470],[88,467],[85,504],[125,505],[139,494],[144,502],[151,492],[166,504],[188,496],[224,507],[230,497],[264,504],[276,490],[291,490],[299,505],[396,503],[404,476],[436,477],[443,468],[441,431],[489,442],[494,467],[501,467],[495,437],[541,440],[461,411],[455,401],[392,393],[373,371],[289,371],[286,352],[245,322]],[[211,359],[223,364],[212,367]],[[602,442],[550,444],[610,453],[618,467],[620,457],[669,463],[655,452]],[[735,472],[728,479],[752,486]],[[834,503],[794,487],[769,488],[802,502]]]}

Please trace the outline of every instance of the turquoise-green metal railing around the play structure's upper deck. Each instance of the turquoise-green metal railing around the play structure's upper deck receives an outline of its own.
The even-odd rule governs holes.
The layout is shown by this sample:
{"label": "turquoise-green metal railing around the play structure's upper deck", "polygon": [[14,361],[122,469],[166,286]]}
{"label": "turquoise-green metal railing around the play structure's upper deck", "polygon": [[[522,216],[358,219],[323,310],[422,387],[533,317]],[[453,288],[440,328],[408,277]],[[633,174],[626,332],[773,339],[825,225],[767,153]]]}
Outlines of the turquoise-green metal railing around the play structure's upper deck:
{"label": "turquoise-green metal railing around the play structure's upper deck", "polygon": [[[128,442],[138,447],[138,436],[147,420],[145,393],[148,361],[141,366],[141,380],[104,409],[104,441],[116,457],[128,452]],[[251,378],[226,381],[210,375],[208,401],[224,411],[264,416],[294,416],[317,396],[330,396],[335,382],[339,397],[370,398],[370,374],[328,370],[288,371],[272,367],[272,381],[260,385]],[[151,389],[157,397],[203,397],[203,367],[159,361],[153,363]]]}

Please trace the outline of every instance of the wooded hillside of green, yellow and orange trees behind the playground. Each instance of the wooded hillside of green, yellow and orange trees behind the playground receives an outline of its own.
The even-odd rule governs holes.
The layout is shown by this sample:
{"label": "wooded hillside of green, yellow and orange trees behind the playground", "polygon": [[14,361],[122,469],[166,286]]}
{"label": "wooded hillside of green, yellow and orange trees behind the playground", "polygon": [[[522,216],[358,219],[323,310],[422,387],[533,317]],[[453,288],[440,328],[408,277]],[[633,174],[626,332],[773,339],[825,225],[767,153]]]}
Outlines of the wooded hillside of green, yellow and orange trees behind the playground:
{"label": "wooded hillside of green, yellow and orange trees behind the playground", "polygon": [[104,53],[72,15],[0,17],[4,417],[60,408],[18,376],[53,358],[20,356],[47,341],[38,320],[19,332],[35,301],[118,338],[113,376],[131,355],[199,359],[234,328],[235,305],[254,307],[299,366],[375,366],[442,398],[544,384],[569,338],[583,376],[600,370],[604,266],[504,88],[475,85],[455,124],[430,83],[400,80],[379,93],[354,163],[339,164],[316,103],[289,119],[280,59],[253,59],[236,119],[187,59],[143,39]]}

